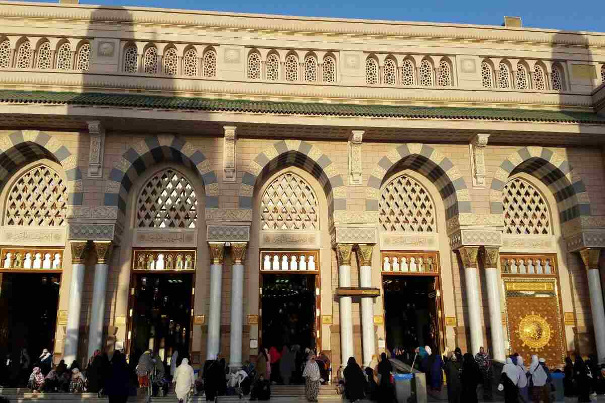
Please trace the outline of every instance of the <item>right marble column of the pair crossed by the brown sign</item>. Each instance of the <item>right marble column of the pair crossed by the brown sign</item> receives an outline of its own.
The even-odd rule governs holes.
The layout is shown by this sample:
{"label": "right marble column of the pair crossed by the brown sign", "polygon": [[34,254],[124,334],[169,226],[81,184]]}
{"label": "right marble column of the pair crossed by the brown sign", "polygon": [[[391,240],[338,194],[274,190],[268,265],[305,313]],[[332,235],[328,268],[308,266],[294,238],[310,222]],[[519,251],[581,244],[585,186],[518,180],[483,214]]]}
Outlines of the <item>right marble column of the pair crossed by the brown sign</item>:
{"label": "right marble column of the pair crossed by the brown sign", "polygon": [[[374,245],[357,245],[357,259],[359,260],[359,286],[372,286],[372,251]],[[370,365],[374,355],[374,309],[372,297],[361,298],[361,345],[364,366]]]}

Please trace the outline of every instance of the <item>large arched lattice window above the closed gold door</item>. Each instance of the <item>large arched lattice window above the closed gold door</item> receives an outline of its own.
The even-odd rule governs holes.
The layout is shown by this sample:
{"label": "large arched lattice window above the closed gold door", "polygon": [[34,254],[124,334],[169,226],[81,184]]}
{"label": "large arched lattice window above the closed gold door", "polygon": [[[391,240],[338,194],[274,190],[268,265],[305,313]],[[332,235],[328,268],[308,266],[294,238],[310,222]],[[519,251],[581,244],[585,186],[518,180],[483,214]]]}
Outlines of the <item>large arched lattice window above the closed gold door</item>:
{"label": "large arched lattice window above the closed gold door", "polygon": [[507,234],[549,235],[551,222],[546,201],[522,178],[509,181],[502,191]]}

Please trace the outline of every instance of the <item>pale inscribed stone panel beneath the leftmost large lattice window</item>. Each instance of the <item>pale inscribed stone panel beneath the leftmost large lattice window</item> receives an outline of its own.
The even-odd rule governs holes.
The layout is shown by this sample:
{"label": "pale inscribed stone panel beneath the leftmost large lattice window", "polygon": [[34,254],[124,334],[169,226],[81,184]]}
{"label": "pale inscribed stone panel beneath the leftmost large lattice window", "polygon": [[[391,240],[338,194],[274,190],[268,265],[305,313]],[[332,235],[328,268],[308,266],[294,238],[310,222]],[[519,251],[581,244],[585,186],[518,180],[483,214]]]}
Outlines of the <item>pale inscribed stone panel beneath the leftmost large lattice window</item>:
{"label": "pale inscribed stone panel beneath the leftmost large lattice window", "polygon": [[66,227],[0,227],[0,245],[20,247],[65,247]]}

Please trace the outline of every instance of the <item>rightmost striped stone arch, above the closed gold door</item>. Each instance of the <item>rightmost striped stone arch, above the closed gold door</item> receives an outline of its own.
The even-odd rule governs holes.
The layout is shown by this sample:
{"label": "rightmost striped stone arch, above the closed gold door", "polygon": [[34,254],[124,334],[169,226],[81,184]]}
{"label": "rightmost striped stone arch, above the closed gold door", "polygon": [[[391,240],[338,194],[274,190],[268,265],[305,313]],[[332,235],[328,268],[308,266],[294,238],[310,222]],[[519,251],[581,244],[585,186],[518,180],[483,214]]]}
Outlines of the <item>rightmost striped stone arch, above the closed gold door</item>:
{"label": "rightmost striped stone arch, above the closed gold door", "polygon": [[590,215],[590,200],[586,186],[569,162],[558,153],[544,147],[523,147],[500,164],[492,179],[489,202],[492,213],[503,212],[502,191],[508,178],[525,172],[540,179],[557,201],[561,224],[578,216]]}

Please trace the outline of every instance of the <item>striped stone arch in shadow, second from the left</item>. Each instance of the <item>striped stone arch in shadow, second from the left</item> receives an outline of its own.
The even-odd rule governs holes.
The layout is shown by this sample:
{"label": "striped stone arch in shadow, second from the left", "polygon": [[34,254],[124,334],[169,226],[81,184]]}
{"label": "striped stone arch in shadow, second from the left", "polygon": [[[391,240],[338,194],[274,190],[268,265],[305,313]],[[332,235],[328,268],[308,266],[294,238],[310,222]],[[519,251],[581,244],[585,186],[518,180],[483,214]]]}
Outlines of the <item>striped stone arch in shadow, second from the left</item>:
{"label": "striped stone arch in shadow, second from the left", "polygon": [[204,183],[206,208],[218,207],[217,175],[200,150],[174,135],[157,135],[139,141],[114,165],[105,182],[104,204],[117,206],[125,214],[126,199],[134,181],[152,164],[165,160],[180,161],[197,172]]}

